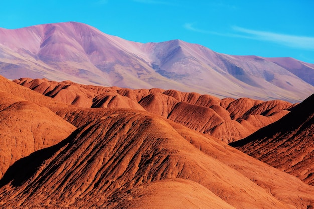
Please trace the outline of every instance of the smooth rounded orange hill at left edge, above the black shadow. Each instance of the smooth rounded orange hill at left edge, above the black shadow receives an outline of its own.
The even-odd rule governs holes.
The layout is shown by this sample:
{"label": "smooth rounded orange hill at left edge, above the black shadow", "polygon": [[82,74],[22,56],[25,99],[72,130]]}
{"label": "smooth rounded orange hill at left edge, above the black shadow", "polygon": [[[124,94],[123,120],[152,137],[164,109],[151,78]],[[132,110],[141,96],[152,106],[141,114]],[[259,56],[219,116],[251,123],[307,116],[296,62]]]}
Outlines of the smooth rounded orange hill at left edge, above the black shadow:
{"label": "smooth rounded orange hill at left edge, above the black shadow", "polygon": [[0,115],[0,178],[20,158],[59,143],[75,130],[48,108],[29,101],[15,102]]}

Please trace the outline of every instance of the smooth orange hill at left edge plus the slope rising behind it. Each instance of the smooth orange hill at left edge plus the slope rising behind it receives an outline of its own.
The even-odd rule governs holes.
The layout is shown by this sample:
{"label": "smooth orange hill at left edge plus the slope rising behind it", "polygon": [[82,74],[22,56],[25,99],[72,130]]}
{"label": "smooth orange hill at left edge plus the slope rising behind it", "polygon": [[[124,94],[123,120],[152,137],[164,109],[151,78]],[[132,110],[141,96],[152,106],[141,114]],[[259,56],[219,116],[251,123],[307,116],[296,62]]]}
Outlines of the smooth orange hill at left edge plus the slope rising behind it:
{"label": "smooth orange hill at left edge plus the slope rising behind it", "polygon": [[3,77],[0,80],[1,178],[17,160],[59,143],[76,128],[40,104],[53,107],[58,102]]}

